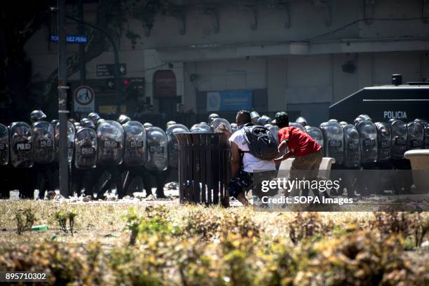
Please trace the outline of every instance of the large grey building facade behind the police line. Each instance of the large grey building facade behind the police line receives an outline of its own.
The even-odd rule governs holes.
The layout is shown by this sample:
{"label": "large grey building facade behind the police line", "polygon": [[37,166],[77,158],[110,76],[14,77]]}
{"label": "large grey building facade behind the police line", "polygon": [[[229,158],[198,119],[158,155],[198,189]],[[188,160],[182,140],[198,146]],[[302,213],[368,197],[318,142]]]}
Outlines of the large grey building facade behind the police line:
{"label": "large grey building facade behind the police line", "polygon": [[[128,18],[137,43],[118,39],[127,78],[144,79],[125,111],[150,103],[165,119],[178,109],[196,120],[216,112],[232,120],[246,108],[273,116],[286,110],[310,124],[327,120],[330,104],[365,86],[429,78],[429,2],[422,0],[170,1],[149,29]],[[85,19],[96,4],[85,6]],[[76,25],[68,23],[69,31]],[[41,30],[27,43],[34,81],[56,68],[56,46]],[[70,55],[77,45],[69,45]],[[110,47],[86,64],[96,111],[109,106],[111,76],[97,65],[113,63]],[[170,73],[158,71],[172,71]],[[78,82],[79,72],[69,81]],[[104,88],[97,88],[104,86]],[[132,114],[130,114],[132,115]]]}

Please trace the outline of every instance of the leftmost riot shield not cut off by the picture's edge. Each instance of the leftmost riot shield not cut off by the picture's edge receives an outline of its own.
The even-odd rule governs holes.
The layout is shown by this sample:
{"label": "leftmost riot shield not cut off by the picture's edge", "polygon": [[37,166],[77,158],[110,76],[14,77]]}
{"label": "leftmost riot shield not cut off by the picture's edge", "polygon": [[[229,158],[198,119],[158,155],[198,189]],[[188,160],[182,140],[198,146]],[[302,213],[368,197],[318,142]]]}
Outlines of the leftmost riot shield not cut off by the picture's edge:
{"label": "leftmost riot shield not cut off by the picture's edge", "polygon": [[33,131],[25,122],[14,122],[9,130],[11,164],[15,168],[31,168],[33,161]]}

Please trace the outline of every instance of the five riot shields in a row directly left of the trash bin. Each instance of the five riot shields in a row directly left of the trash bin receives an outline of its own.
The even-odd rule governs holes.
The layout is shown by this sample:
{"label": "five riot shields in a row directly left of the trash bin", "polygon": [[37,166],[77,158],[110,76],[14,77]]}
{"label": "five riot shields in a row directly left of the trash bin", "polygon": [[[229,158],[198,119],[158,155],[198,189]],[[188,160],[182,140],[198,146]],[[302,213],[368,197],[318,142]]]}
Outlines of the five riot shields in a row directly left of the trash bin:
{"label": "five riot shields in a row directly left of the trash bin", "polygon": [[144,165],[148,170],[178,168],[177,132],[189,132],[181,124],[171,125],[166,132],[142,123],[104,121],[97,130],[81,128],[76,132],[76,168],[95,168],[97,165]]}

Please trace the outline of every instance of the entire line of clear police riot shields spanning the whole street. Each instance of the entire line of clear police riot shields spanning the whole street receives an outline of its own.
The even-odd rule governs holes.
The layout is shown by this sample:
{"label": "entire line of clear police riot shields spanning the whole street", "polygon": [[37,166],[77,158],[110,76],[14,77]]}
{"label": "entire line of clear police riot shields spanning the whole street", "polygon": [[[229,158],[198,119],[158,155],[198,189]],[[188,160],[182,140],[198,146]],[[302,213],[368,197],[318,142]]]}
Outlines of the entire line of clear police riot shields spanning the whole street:
{"label": "entire line of clear police riot shields spanning the whole street", "polygon": [[[95,168],[97,165],[144,165],[149,170],[178,168],[179,152],[175,134],[178,132],[219,132],[219,125],[233,131],[224,118],[215,118],[210,125],[198,123],[189,130],[181,124],[173,124],[164,132],[142,123],[129,121],[120,125],[116,121],[104,121],[97,129],[75,129],[67,125],[68,161],[76,168]],[[404,123],[390,120],[373,123],[362,120],[353,124],[334,121],[320,124],[320,128],[290,123],[313,137],[323,147],[325,156],[336,159],[345,168],[357,168],[361,164],[386,162],[404,158],[409,149],[429,148],[429,123],[418,120]],[[46,121],[33,125],[0,124],[0,165],[14,168],[31,168],[34,163],[46,164],[58,161],[60,125],[55,127]],[[278,126],[266,125],[278,139]]]}

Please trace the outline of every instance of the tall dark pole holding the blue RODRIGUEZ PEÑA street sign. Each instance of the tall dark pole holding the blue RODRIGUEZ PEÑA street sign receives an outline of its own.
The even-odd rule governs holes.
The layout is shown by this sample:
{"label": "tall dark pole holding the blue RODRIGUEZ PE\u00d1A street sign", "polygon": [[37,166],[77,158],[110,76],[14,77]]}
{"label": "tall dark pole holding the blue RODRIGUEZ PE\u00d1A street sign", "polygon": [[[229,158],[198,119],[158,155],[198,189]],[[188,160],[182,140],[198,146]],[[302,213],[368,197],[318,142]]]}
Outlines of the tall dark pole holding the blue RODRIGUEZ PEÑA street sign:
{"label": "tall dark pole holding the blue RODRIGUEZ PE\u00d1A street sign", "polygon": [[57,0],[58,33],[58,118],[60,119],[60,194],[69,196],[67,161],[67,39],[65,32],[65,0]]}

